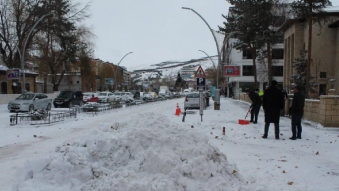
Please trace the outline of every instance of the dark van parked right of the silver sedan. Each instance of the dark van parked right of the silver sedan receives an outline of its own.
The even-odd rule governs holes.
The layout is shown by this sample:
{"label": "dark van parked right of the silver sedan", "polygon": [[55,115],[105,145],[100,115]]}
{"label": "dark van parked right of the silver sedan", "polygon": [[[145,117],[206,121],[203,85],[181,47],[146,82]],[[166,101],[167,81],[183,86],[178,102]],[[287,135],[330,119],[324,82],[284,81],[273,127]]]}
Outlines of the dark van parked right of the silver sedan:
{"label": "dark van parked right of the silver sedan", "polygon": [[54,99],[55,108],[72,108],[74,105],[82,106],[83,95],[80,90],[64,90]]}

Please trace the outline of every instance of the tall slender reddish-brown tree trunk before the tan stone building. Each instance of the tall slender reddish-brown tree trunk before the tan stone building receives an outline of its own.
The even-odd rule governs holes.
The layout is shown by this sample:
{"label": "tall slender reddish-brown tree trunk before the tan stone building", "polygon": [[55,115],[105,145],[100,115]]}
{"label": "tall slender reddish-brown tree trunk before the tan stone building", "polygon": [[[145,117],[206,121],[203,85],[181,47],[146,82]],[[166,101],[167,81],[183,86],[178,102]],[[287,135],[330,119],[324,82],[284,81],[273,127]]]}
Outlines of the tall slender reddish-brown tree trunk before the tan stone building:
{"label": "tall slender reddish-brown tree trunk before the tan stone building", "polygon": [[310,0],[310,17],[308,17],[308,48],[306,65],[305,98],[310,97],[311,52],[312,52],[312,0]]}

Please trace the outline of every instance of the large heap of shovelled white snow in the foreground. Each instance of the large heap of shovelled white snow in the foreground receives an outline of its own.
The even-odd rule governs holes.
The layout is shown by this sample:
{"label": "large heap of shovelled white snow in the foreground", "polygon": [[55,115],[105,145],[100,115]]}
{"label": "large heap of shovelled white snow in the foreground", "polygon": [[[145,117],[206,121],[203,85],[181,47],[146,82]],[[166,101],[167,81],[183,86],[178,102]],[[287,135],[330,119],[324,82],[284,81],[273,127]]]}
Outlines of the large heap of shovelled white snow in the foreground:
{"label": "large heap of shovelled white snow in the foreground", "polygon": [[[18,171],[15,191],[255,191],[195,129],[140,115],[57,147]],[[258,188],[258,186],[256,186]],[[260,189],[262,191],[262,189]]]}

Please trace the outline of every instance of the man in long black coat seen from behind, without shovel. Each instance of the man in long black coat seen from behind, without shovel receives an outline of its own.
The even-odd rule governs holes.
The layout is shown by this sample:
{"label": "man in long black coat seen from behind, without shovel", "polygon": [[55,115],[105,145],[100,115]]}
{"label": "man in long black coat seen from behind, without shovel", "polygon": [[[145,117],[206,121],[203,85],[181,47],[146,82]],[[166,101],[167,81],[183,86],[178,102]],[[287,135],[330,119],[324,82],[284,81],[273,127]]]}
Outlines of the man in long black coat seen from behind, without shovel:
{"label": "man in long black coat seen from behind, without shovel", "polygon": [[266,139],[270,123],[274,123],[275,137],[279,139],[280,112],[283,109],[283,97],[278,88],[278,82],[272,80],[271,87],[264,92],[262,107],[265,111],[265,132],[262,138]]}

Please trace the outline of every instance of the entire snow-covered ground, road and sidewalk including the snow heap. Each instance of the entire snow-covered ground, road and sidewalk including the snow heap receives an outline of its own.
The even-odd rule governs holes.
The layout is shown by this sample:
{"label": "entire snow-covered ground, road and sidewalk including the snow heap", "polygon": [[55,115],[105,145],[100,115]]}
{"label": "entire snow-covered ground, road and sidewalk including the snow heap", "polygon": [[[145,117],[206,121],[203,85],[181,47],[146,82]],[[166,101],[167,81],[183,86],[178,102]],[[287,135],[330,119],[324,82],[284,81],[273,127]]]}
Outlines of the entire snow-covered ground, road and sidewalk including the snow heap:
{"label": "entire snow-covered ground, road and sidewalk including the snow heap", "polygon": [[303,139],[292,141],[284,117],[281,139],[273,124],[262,139],[262,111],[259,124],[237,124],[248,103],[222,99],[220,111],[204,110],[203,122],[197,110],[181,122],[177,102],[182,109],[178,99],[48,127],[0,126],[0,141],[9,142],[0,148],[0,190],[14,180],[25,191],[339,190],[338,128],[304,122]]}

